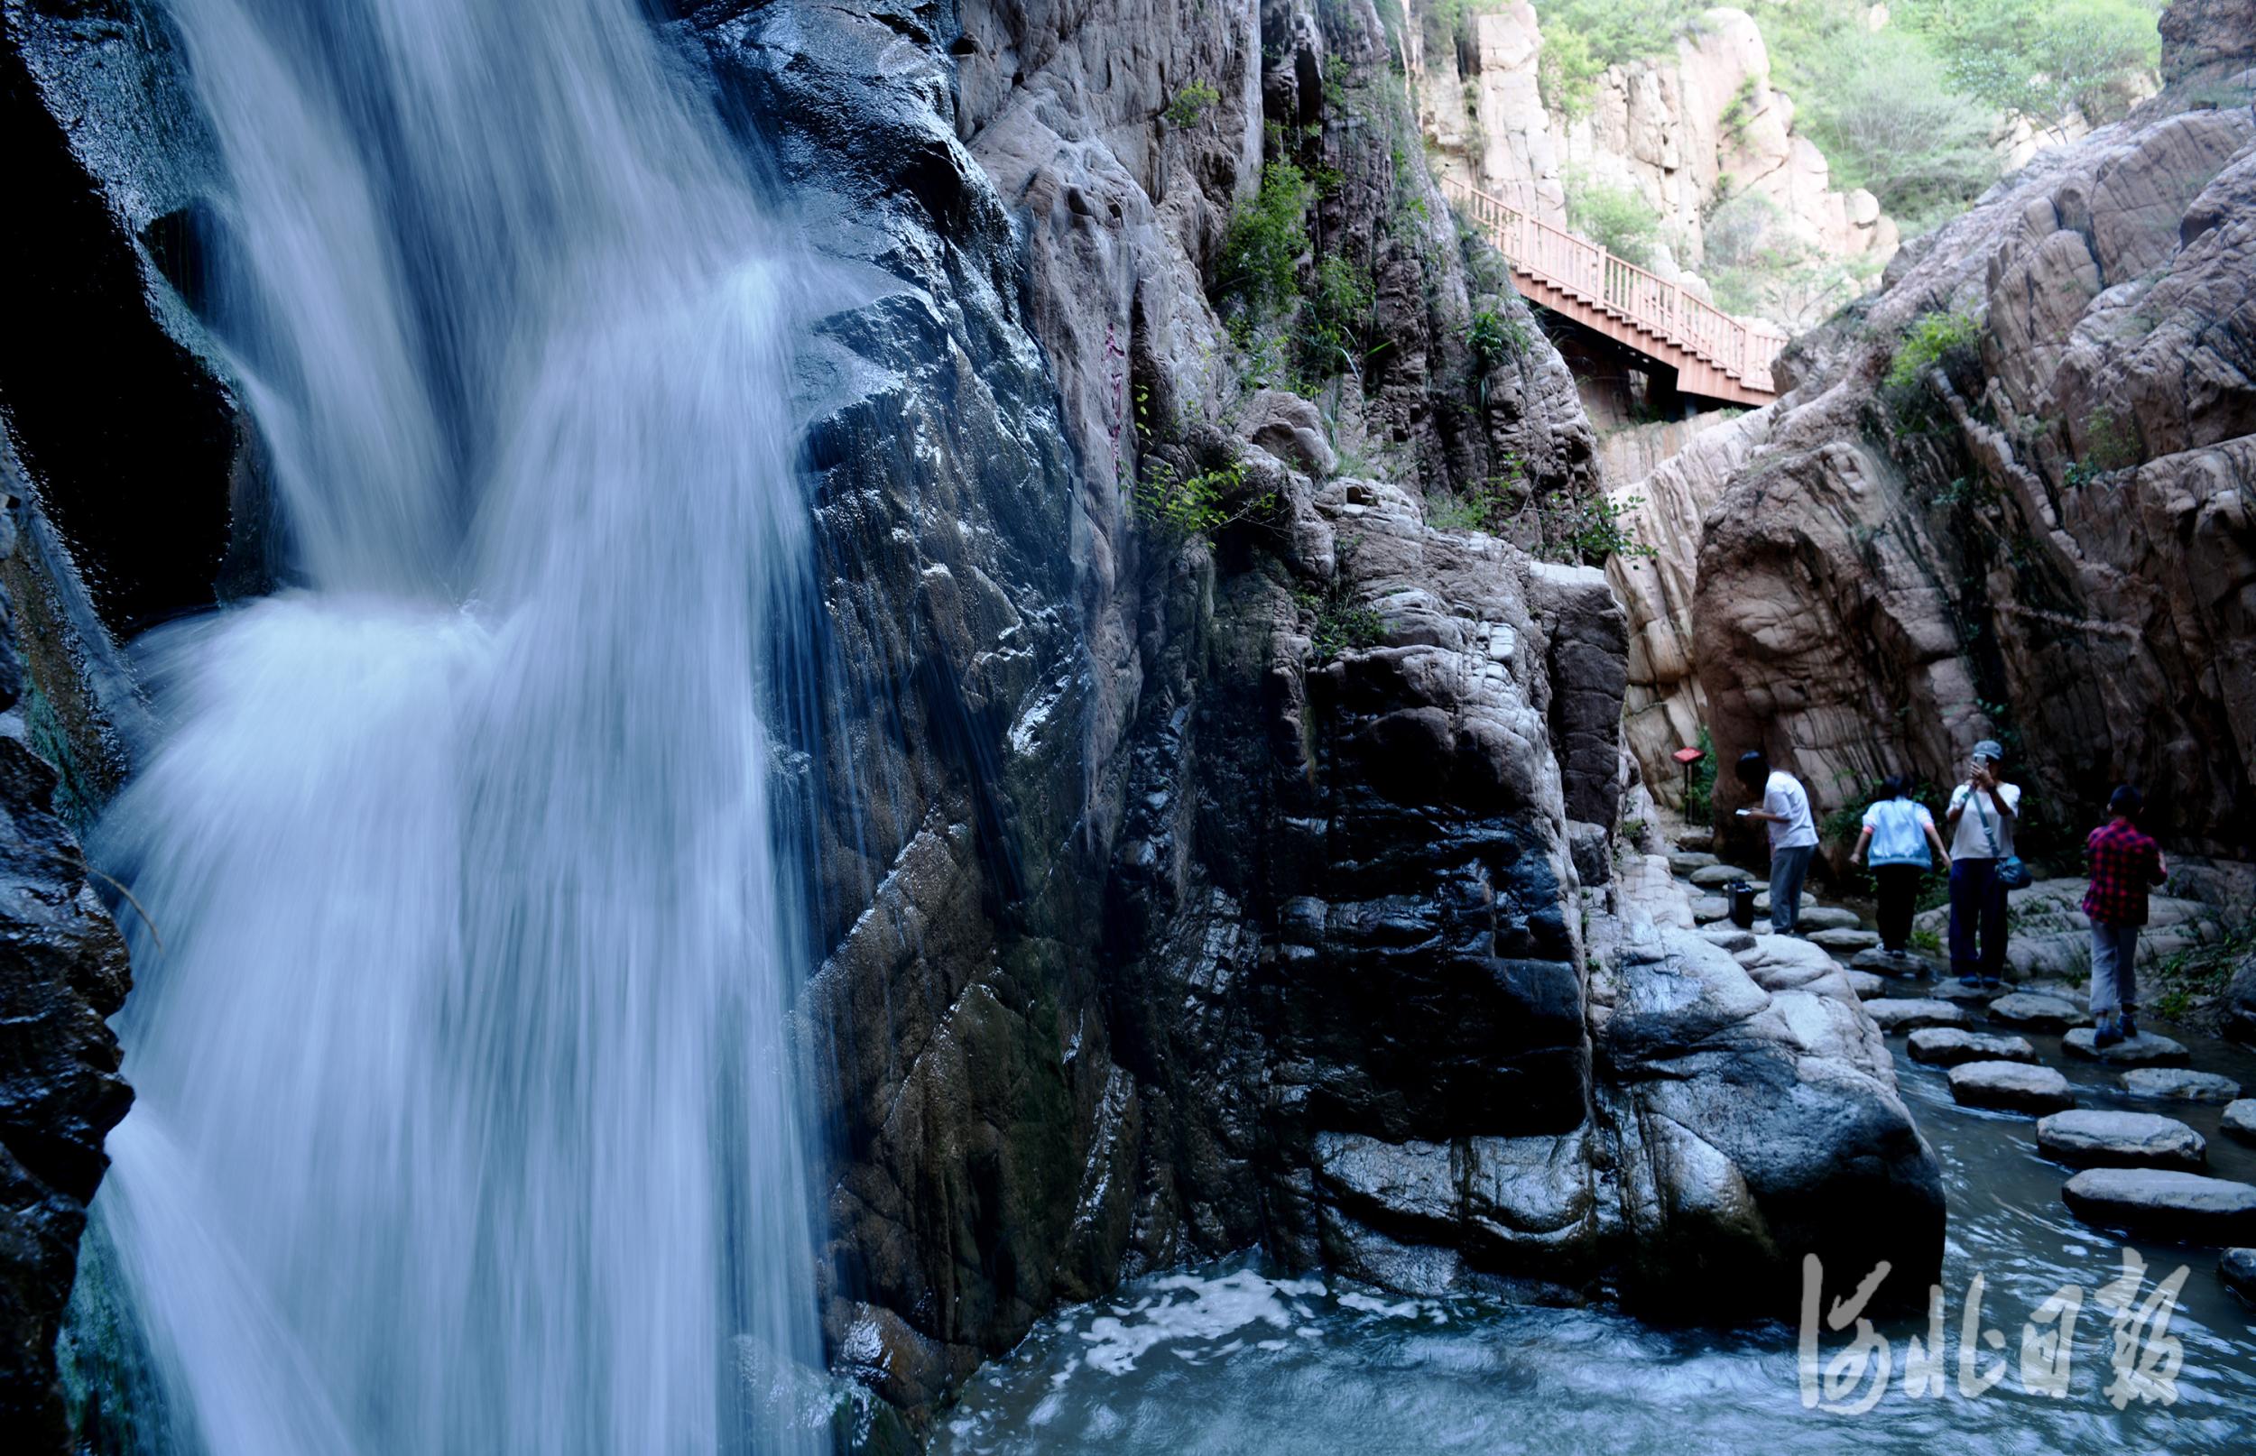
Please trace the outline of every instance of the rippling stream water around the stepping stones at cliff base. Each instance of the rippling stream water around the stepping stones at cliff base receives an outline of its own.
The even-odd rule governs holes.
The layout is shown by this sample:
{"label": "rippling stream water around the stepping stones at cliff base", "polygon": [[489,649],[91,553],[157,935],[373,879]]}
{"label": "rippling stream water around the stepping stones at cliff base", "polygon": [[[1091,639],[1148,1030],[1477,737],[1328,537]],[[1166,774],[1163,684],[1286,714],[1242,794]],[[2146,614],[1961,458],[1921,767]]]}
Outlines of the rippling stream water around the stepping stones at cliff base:
{"label": "rippling stream water around the stepping stones at cliff base", "polygon": [[[2256,1086],[2249,1053],[2159,1030],[2186,1041],[2195,1066]],[[2134,1102],[2114,1068],[2064,1057],[2060,1037],[2021,1035],[2066,1073],[2080,1107],[2164,1111],[2209,1138],[2213,1174],[2256,1177],[2256,1147],[2218,1131],[2218,1107]],[[934,1451],[2249,1451],[2256,1339],[2247,1305],[2215,1278],[2218,1251],[2125,1242],[2076,1222],[2060,1201],[2069,1170],[2035,1154],[2030,1118],[1954,1104],[1942,1068],[1911,1062],[1902,1037],[1891,1046],[1949,1199],[1940,1397],[1904,1393],[1924,1319],[1879,1321],[1893,1359],[1886,1393],[1870,1411],[1827,1413],[1803,1406],[1789,1323],[1669,1330],[1609,1307],[1403,1298],[1241,1255],[1045,1321],[972,1379],[941,1418]],[[2166,1332],[2184,1350],[2175,1402],[2130,1395],[2116,1411],[2098,1291],[2121,1278],[2125,1244],[2145,1260],[2141,1303],[2179,1264],[2191,1273]],[[1863,1273],[1827,1278],[1827,1305]],[[1958,1393],[1958,1328],[1974,1276],[1985,1282],[1983,1328],[2003,1334],[2001,1355],[1981,1348],[1976,1379],[1994,1364],[2006,1377],[1969,1397]],[[2085,1291],[2066,1393],[2028,1393],[2021,1325],[2064,1285]],[[1825,1330],[1818,1366],[1848,1341]],[[1841,1402],[1866,1393],[1868,1377]]]}

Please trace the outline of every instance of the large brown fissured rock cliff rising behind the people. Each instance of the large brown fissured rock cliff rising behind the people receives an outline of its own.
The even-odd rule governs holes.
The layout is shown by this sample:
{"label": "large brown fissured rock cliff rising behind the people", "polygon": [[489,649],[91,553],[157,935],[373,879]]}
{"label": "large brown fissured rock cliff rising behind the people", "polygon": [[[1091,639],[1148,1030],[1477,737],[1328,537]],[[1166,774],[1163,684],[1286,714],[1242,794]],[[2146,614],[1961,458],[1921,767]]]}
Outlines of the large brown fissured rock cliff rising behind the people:
{"label": "large brown fissured rock cliff rising behind the people", "polygon": [[2001,737],[2035,829],[2132,780],[2186,847],[2256,852],[2256,29],[2164,25],[2161,97],[1909,248],[1789,397],[1649,482],[1710,500],[1719,757],[1766,746],[1821,814]]}

